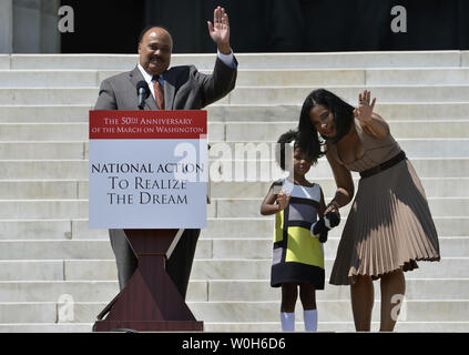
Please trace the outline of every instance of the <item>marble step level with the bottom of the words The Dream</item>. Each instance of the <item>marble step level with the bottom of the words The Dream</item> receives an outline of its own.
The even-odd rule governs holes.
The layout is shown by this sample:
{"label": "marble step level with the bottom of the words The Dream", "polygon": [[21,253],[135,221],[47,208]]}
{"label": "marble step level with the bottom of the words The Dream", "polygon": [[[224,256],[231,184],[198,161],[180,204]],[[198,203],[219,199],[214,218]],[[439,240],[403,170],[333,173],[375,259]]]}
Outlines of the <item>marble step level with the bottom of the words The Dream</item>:
{"label": "marble step level with the bottom of the words The Dream", "polygon": [[[330,201],[332,196],[326,196]],[[468,197],[429,197],[434,216],[469,215]],[[207,204],[208,217],[259,217],[262,199],[212,199]],[[341,216],[347,216],[351,204],[344,206]],[[57,220],[86,219],[88,200],[0,200],[0,220]]]}

